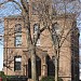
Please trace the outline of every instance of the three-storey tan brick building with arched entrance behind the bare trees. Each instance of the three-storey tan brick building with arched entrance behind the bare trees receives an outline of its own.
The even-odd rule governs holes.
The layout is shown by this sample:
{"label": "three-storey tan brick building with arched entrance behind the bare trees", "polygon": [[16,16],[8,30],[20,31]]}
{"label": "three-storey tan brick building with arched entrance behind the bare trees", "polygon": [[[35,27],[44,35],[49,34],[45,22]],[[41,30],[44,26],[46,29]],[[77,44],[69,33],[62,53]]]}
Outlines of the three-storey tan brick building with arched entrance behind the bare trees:
{"label": "three-storey tan brick building with arched entrance behind the bare trees", "polygon": [[[30,13],[32,9],[30,8]],[[57,15],[53,22],[64,27],[65,16]],[[75,15],[66,15],[64,37],[69,28],[76,27]],[[75,23],[75,25],[72,25]],[[39,24],[39,25],[38,25]],[[33,38],[35,27],[42,27],[38,16],[30,14],[30,28]],[[4,18],[4,73],[8,76],[26,76],[31,79],[31,60],[27,46],[26,27],[23,16],[9,16]],[[37,76],[54,76],[53,46],[51,36],[45,29],[37,42]],[[59,53],[58,76],[64,81],[79,81],[79,30],[71,31],[62,45]]]}

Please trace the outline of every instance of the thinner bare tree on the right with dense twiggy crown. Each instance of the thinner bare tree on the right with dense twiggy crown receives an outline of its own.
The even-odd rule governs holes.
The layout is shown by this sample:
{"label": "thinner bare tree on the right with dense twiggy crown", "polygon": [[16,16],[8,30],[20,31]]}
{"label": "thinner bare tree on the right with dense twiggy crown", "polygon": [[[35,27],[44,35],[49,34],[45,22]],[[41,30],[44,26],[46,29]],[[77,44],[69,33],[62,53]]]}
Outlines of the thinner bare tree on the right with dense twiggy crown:
{"label": "thinner bare tree on the right with dense twiggy crown", "polygon": [[[69,3],[71,2],[71,3]],[[68,3],[68,4],[67,4]],[[44,28],[48,28],[50,31],[52,44],[53,44],[53,51],[54,51],[54,63],[55,63],[55,81],[58,81],[58,66],[59,66],[59,53],[60,49],[64,44],[64,42],[67,40],[68,36],[71,35],[72,32],[79,32],[77,28],[77,18],[76,16],[79,16],[80,12],[75,11],[75,2],[73,1],[64,1],[64,0],[41,0],[41,3],[39,4],[39,16],[40,21],[43,22]],[[72,6],[72,12],[71,9],[68,8],[68,5],[71,4]],[[52,8],[52,10],[50,10]],[[80,8],[80,6],[79,6]],[[69,11],[68,11],[69,10]],[[67,14],[68,13],[68,14]],[[73,16],[69,15],[71,13]],[[58,28],[57,22],[54,22],[54,18],[56,16],[63,15],[65,18],[64,26]],[[67,22],[67,16],[72,18],[72,24],[69,29],[66,29],[66,22]],[[77,16],[77,17],[78,17]],[[57,30],[59,29],[59,30]],[[65,35],[65,31],[67,30],[67,33]],[[75,39],[73,39],[75,40]],[[78,46],[77,46],[78,49]]]}

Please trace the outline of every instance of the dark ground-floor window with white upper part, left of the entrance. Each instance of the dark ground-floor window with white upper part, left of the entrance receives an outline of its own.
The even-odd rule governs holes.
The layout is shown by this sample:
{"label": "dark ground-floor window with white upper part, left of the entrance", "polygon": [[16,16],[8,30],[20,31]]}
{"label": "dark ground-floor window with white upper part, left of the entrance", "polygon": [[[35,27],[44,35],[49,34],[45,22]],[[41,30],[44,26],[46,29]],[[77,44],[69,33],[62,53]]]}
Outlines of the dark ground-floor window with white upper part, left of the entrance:
{"label": "dark ground-floor window with white upper part, left of the entrance", "polygon": [[22,69],[22,56],[14,57],[14,71]]}

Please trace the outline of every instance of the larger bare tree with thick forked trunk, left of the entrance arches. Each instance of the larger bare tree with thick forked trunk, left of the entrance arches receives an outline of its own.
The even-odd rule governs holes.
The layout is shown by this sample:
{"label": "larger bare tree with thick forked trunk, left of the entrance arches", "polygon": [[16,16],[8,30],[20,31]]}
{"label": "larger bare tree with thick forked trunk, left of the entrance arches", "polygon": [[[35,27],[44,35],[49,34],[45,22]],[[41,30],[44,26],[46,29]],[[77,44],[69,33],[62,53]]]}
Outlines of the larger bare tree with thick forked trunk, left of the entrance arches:
{"label": "larger bare tree with thick forked trunk, left of the entrance arches", "polygon": [[[16,3],[19,6],[19,9],[22,10],[24,22],[25,22],[25,27],[27,29],[27,33],[26,33],[27,35],[27,44],[29,46],[30,54],[31,54],[31,75],[32,75],[31,77],[32,77],[32,81],[36,81],[37,80],[37,73],[36,73],[36,44],[37,44],[38,38],[40,37],[40,33],[43,31],[43,28],[40,29],[39,30],[40,32],[37,32],[36,38],[32,39],[31,33],[30,33],[31,31],[30,31],[30,21],[29,21],[30,19],[29,18],[29,5],[28,5],[27,0],[21,0],[22,5],[15,0],[5,0],[4,2],[0,3],[0,6],[2,4],[8,3],[8,2]],[[8,65],[8,63],[6,63],[6,65]]]}

